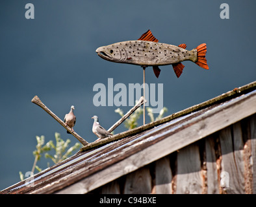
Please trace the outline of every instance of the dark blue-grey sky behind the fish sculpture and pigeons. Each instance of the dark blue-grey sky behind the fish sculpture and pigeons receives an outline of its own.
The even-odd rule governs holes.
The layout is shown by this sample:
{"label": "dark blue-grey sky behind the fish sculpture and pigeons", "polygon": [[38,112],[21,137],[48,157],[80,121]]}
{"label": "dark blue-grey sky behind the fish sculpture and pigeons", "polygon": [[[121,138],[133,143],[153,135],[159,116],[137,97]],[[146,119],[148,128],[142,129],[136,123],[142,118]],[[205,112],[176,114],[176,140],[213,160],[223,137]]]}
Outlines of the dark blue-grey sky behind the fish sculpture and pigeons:
{"label": "dark blue-grey sky behind the fish sculpture and pigeons", "polygon": [[[34,4],[34,19],[25,18],[27,3]],[[222,3],[229,5],[229,19],[220,18]],[[47,142],[58,132],[71,144],[77,142],[31,103],[34,95],[60,118],[75,105],[74,129],[88,142],[96,140],[92,116],[99,116],[107,129],[120,118],[117,106],[94,105],[93,87],[103,83],[108,89],[108,78],[127,88],[142,83],[142,69],[105,61],[97,56],[97,47],[138,39],[149,28],[159,42],[186,43],[188,50],[207,43],[209,71],[186,61],[180,78],[167,65],[160,67],[157,79],[146,69],[147,83],[163,83],[168,115],[255,81],[255,8],[253,0],[1,0],[0,190],[18,182],[19,171],[31,171],[36,135]],[[131,107],[121,108],[126,112]],[[115,133],[122,131],[123,125]],[[38,166],[47,168],[44,158]]]}

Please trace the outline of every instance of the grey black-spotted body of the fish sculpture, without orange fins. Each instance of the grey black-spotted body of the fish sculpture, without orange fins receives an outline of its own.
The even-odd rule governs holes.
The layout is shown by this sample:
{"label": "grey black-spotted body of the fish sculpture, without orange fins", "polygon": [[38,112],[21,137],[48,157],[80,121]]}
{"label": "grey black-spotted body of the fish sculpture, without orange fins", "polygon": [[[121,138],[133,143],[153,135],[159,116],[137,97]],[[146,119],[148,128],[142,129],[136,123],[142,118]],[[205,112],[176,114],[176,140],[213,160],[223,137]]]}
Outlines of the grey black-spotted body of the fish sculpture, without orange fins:
{"label": "grey black-spotted body of the fish sculpture, without orange fins", "polygon": [[[105,60],[134,65],[170,65],[181,61],[196,61],[197,51],[152,41],[123,41],[97,49]],[[105,54],[104,54],[104,53]]]}

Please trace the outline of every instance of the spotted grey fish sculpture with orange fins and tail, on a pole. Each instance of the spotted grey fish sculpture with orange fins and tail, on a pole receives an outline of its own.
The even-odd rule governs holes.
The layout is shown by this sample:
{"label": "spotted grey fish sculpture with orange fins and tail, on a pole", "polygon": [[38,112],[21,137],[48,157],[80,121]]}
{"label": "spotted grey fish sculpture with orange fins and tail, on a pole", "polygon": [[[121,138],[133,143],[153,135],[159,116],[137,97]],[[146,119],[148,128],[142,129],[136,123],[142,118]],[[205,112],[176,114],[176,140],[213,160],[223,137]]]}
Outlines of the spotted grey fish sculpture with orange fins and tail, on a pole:
{"label": "spotted grey fish sculpture with orange fins and tail, on a pole", "polygon": [[147,30],[138,40],[122,41],[99,47],[96,52],[101,58],[115,63],[153,66],[157,78],[160,74],[159,65],[170,64],[179,78],[185,67],[181,61],[186,60],[193,61],[203,69],[209,69],[205,58],[207,52],[205,43],[196,49],[186,50],[186,44],[175,46],[158,41],[151,31]]}

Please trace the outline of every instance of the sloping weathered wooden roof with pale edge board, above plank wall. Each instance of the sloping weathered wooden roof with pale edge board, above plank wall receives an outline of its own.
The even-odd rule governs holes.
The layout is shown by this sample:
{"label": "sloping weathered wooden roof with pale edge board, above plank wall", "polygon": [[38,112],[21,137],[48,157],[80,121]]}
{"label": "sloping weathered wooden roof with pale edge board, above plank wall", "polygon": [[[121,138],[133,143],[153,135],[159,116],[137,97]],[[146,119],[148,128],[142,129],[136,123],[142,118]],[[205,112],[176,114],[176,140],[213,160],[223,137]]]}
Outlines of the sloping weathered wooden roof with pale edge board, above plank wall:
{"label": "sloping weathered wooden roof with pale edge board, above plank wall", "polygon": [[88,144],[0,193],[88,193],[256,113],[256,82],[136,129]]}

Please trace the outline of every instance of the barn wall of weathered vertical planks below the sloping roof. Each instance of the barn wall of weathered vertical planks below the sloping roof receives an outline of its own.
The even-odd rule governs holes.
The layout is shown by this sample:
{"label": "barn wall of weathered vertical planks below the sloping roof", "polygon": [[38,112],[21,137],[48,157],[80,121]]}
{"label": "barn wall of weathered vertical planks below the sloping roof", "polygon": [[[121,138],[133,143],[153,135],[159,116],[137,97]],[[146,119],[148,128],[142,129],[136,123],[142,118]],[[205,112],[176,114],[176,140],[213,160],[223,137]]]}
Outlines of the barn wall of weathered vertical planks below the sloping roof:
{"label": "barn wall of weathered vertical planks below the sloping roof", "polygon": [[255,163],[253,114],[89,193],[256,193]]}

